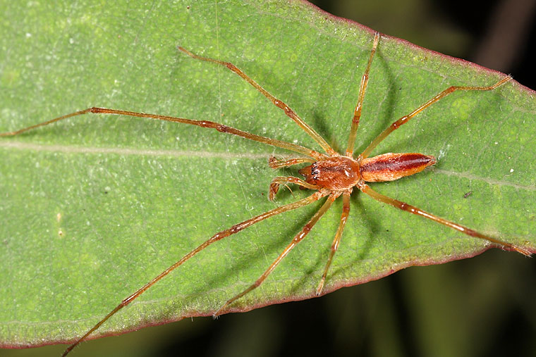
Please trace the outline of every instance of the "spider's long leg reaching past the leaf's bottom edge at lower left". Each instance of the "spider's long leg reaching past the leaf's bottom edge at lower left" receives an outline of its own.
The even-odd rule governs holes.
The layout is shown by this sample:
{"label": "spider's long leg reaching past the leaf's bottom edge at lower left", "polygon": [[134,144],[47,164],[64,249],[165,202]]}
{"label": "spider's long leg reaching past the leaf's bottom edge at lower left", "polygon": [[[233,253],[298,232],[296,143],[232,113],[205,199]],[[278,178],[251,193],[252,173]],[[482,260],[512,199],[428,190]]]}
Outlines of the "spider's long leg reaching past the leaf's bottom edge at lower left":
{"label": "spider's long leg reaching past the leaf's bottom edge at lower left", "polygon": [[[225,237],[229,237],[231,234],[235,234],[237,232],[240,232],[241,230],[244,230],[245,228],[250,227],[251,225],[254,225],[255,223],[259,223],[262,220],[270,218],[270,217],[272,217],[274,215],[278,215],[279,213],[284,213],[284,212],[287,212],[287,211],[292,211],[292,210],[294,210],[296,208],[307,206],[309,203],[315,202],[315,201],[321,199],[323,196],[326,196],[326,195],[327,195],[327,193],[317,191],[314,194],[306,197],[305,199],[300,199],[300,201],[296,201],[296,202],[293,202],[293,203],[288,203],[288,204],[286,204],[284,206],[274,208],[274,209],[272,209],[270,211],[264,212],[264,213],[262,213],[260,215],[257,215],[257,216],[255,216],[253,218],[250,218],[249,220],[245,220],[245,221],[243,221],[241,223],[238,223],[237,225],[233,225],[233,227],[231,227],[231,228],[229,228],[227,230],[222,230],[221,232],[218,232],[218,233],[214,234],[212,237],[210,237],[205,242],[203,242],[200,246],[197,246],[197,248],[193,249],[193,251],[190,251],[190,253],[188,253],[185,256],[183,256],[183,258],[181,258],[181,260],[177,261],[176,263],[173,263],[173,265],[170,265],[169,268],[164,270],[157,277],[154,277],[154,279],[152,279],[150,282],[147,282],[147,284],[145,284],[143,287],[141,287],[140,289],[136,290],[136,292],[134,294],[131,294],[126,299],[123,299],[123,301],[121,301],[121,303],[119,303],[119,305],[116,306],[116,308],[114,308],[114,310],[110,311],[110,313],[108,313],[108,315],[106,315],[102,320],[100,320],[97,323],[97,325],[93,326],[89,331],[87,331],[83,335],[83,337],[80,337],[76,342],[71,344],[71,346],[68,346],[68,348],[65,350],[65,352],[63,352],[63,356],[66,356],[67,353],[69,353],[72,349],[75,348],[75,346],[80,344],[80,342],[83,342],[90,334],[92,334],[92,332],[97,330],[104,322],[106,322],[106,320],[108,320],[109,318],[111,318],[111,316],[115,315],[119,310],[121,310],[121,308],[127,306],[134,299],[136,299],[138,296],[143,294],[147,289],[152,287],[152,285],[156,284],[159,280],[161,280],[163,277],[165,277],[166,275],[171,273],[171,271],[175,270],[178,266],[182,265],[185,261],[188,261],[188,259],[190,259],[193,256],[195,256],[195,254],[197,254],[200,251],[202,251],[203,249],[207,248],[207,246],[209,246],[210,244],[212,244],[214,242],[217,242],[220,239],[223,239]],[[324,206],[325,206],[325,204],[324,204]]]}

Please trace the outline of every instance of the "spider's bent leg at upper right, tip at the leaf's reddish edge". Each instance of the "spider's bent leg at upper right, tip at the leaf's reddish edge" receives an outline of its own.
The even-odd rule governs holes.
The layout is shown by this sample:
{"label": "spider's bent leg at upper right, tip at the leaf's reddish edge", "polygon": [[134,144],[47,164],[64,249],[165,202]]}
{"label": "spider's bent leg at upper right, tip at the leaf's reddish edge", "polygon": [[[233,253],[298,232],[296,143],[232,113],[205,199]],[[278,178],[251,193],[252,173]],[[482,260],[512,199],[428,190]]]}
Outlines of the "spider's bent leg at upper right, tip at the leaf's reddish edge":
{"label": "spider's bent leg at upper right, tip at the leaf's reddish edge", "polygon": [[434,96],[434,98],[427,101],[425,104],[422,104],[419,108],[415,109],[415,111],[409,113],[408,115],[404,115],[402,118],[396,120],[396,122],[392,123],[389,127],[387,127],[386,130],[384,130],[381,134],[379,134],[376,139],[370,143],[369,146],[367,146],[367,149],[361,153],[359,158],[367,158],[370,155],[370,152],[379,144],[382,142],[383,139],[387,137],[387,135],[391,134],[391,132],[394,132],[394,130],[398,129],[398,127],[401,127],[401,125],[408,123],[408,121],[413,118],[415,115],[420,113],[421,111],[424,111],[426,108],[434,104],[436,101],[439,101],[439,99],[444,98],[444,96],[448,96],[452,92],[456,92],[458,90],[461,91],[489,91],[496,89],[501,84],[504,84],[511,80],[512,77],[509,75],[507,77],[504,77],[502,80],[499,80],[499,82],[490,85],[489,87],[465,87],[465,86],[452,86],[447,89],[445,89],[443,92],[437,94]]}

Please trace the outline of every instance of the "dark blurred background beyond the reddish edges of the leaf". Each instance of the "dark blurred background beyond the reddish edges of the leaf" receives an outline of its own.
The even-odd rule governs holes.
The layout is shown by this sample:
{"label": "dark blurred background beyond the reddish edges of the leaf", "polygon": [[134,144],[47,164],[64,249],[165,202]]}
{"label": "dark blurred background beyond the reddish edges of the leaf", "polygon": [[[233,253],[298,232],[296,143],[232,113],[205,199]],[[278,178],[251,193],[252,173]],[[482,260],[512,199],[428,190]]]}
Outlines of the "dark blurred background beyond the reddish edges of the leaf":
{"label": "dark blurred background beyond the reddish edges of the leaf", "polygon": [[[536,88],[536,1],[313,1],[334,15]],[[536,356],[536,261],[494,249],[408,268],[319,299],[183,320],[73,356]],[[57,356],[63,346],[1,351]]]}

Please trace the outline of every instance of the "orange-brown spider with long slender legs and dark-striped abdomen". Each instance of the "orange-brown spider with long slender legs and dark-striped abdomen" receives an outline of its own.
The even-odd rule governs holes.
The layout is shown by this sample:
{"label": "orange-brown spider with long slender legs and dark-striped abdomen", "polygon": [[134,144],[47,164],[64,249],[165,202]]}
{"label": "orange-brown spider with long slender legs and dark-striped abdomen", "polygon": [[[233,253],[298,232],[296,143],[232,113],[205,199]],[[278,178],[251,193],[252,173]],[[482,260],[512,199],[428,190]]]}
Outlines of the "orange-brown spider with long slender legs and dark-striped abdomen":
{"label": "orange-brown spider with long slender legs and dark-striped abdomen", "polygon": [[296,208],[307,206],[310,203],[319,201],[320,199],[325,199],[324,203],[318,209],[318,211],[312,216],[312,218],[310,218],[310,220],[305,224],[305,226],[303,226],[300,232],[298,232],[298,234],[296,234],[296,236],[293,237],[291,242],[279,254],[279,256],[275,259],[275,261],[273,261],[272,264],[269,265],[269,267],[264,271],[264,273],[262,273],[262,275],[260,275],[260,277],[255,282],[253,282],[250,285],[250,287],[245,289],[243,292],[240,292],[240,294],[237,294],[236,296],[233,296],[231,297],[231,299],[227,300],[224,303],[224,305],[221,306],[214,313],[214,316],[224,313],[226,309],[234,301],[236,301],[237,299],[240,299],[245,294],[248,294],[253,289],[259,287],[260,284],[262,284],[262,282],[264,282],[264,280],[267,278],[267,276],[270,273],[272,273],[272,271],[276,268],[276,266],[281,262],[281,260],[285,258],[285,256],[287,256],[287,254],[290,253],[290,251],[307,236],[307,234],[310,232],[310,230],[313,229],[313,227],[318,222],[318,220],[322,218],[322,215],[324,215],[324,213],[326,213],[329,210],[329,208],[331,208],[331,205],[334,203],[334,201],[337,198],[339,198],[339,196],[342,196],[343,211],[341,213],[341,218],[339,220],[339,227],[336,230],[335,237],[331,244],[329,256],[324,266],[322,277],[320,277],[320,280],[316,289],[317,295],[322,294],[322,290],[324,289],[324,284],[327,279],[327,274],[329,272],[329,267],[331,265],[331,262],[333,261],[334,254],[339,248],[343,230],[346,225],[348,215],[350,213],[350,197],[354,188],[357,188],[364,194],[367,194],[368,196],[372,197],[372,199],[381,201],[383,203],[387,203],[402,211],[407,211],[415,215],[420,215],[424,218],[440,223],[441,225],[446,225],[447,227],[451,227],[454,230],[458,230],[459,232],[468,234],[470,237],[477,237],[480,239],[485,239],[488,242],[491,242],[492,244],[501,247],[502,249],[518,251],[519,253],[525,254],[525,256],[531,255],[530,251],[528,251],[527,249],[524,249],[523,247],[516,246],[508,242],[495,239],[493,237],[489,237],[485,234],[472,230],[463,225],[453,223],[449,220],[445,220],[444,218],[439,218],[437,215],[433,215],[432,213],[423,211],[422,209],[415,207],[415,206],[411,206],[410,204],[405,203],[403,201],[398,201],[396,199],[392,199],[389,196],[380,194],[374,191],[372,188],[370,188],[370,186],[366,183],[366,182],[386,182],[386,181],[398,180],[401,177],[406,177],[409,175],[413,175],[415,173],[419,173],[422,170],[425,170],[425,168],[427,168],[428,166],[434,165],[434,163],[436,163],[436,158],[434,158],[434,156],[418,154],[418,153],[398,153],[398,154],[387,153],[387,154],[381,154],[378,156],[370,157],[372,150],[380,142],[386,139],[386,137],[388,137],[389,134],[391,134],[391,132],[394,132],[394,130],[397,130],[402,125],[408,123],[408,121],[411,118],[414,118],[415,115],[418,115],[418,113],[420,113],[421,111],[424,111],[425,108],[432,106],[432,104],[436,103],[440,99],[444,98],[445,96],[453,92],[456,92],[456,91],[489,91],[489,90],[496,89],[497,87],[500,87],[502,84],[505,84],[506,82],[511,80],[510,76],[506,76],[503,79],[499,80],[499,82],[493,85],[487,86],[487,87],[466,87],[466,86],[449,87],[445,89],[443,92],[440,92],[439,94],[434,96],[429,101],[426,101],[425,104],[422,104],[421,106],[416,108],[414,111],[412,111],[408,115],[404,115],[403,117],[399,118],[394,123],[389,125],[389,127],[387,127],[382,133],[380,133],[372,141],[372,143],[369,146],[367,146],[367,148],[362,153],[355,156],[355,153],[354,153],[355,139],[356,139],[356,135],[358,131],[361,111],[363,108],[363,101],[365,99],[367,83],[369,80],[369,72],[370,72],[370,68],[372,65],[372,60],[374,58],[374,54],[376,53],[377,46],[379,44],[379,39],[380,39],[380,34],[379,32],[376,32],[374,34],[374,39],[372,41],[372,51],[370,52],[370,57],[368,58],[367,67],[365,68],[365,73],[363,74],[363,77],[361,78],[361,82],[360,82],[358,103],[355,106],[355,111],[353,113],[353,120],[351,122],[351,132],[348,137],[348,145],[346,146],[346,151],[343,154],[337,153],[333,148],[331,148],[331,146],[326,142],[326,140],[323,139],[317,132],[315,132],[315,130],[312,129],[310,125],[307,125],[307,123],[305,123],[305,121],[301,119],[296,114],[295,111],[293,111],[283,101],[276,99],[275,96],[267,92],[267,90],[262,88],[260,84],[257,84],[257,82],[252,80],[252,78],[248,77],[248,75],[246,75],[242,70],[237,68],[232,63],[220,61],[220,60],[213,59],[213,58],[205,58],[202,56],[197,56],[196,54],[193,54],[192,52],[180,46],[178,47],[178,49],[182,51],[184,54],[190,56],[191,58],[194,58],[200,61],[207,61],[209,63],[214,63],[216,65],[222,65],[226,68],[229,68],[229,70],[231,70],[233,73],[236,73],[237,75],[242,77],[243,80],[251,84],[252,87],[255,87],[257,91],[259,91],[264,96],[266,96],[267,99],[269,99],[269,101],[272,101],[272,103],[275,106],[277,106],[282,111],[284,111],[284,113],[289,118],[291,118],[312,139],[314,139],[315,142],[317,142],[317,144],[319,144],[320,147],[322,147],[322,149],[324,150],[324,153],[321,153],[319,151],[315,151],[312,149],[308,149],[307,147],[300,146],[298,144],[283,142],[283,141],[280,141],[277,139],[271,139],[268,137],[262,137],[257,134],[252,134],[249,132],[245,132],[243,130],[238,130],[233,127],[221,125],[219,123],[214,123],[212,121],[190,120],[190,119],[176,118],[176,117],[171,117],[171,116],[166,116],[166,115],[155,115],[155,114],[147,114],[147,113],[138,113],[138,112],[133,112],[133,111],[110,109],[110,108],[97,108],[97,107],[87,108],[83,111],[77,111],[74,113],[63,115],[58,118],[54,118],[52,120],[39,123],[37,125],[32,125],[30,127],[25,127],[23,129],[16,130],[13,132],[0,133],[0,137],[13,136],[13,135],[20,134],[22,132],[26,132],[28,130],[35,129],[36,127],[49,125],[59,120],[64,120],[66,118],[71,118],[71,117],[83,115],[86,113],[130,115],[130,116],[138,117],[138,118],[151,118],[155,120],[169,121],[172,123],[197,125],[199,127],[212,128],[223,133],[238,135],[239,137],[243,137],[245,139],[250,139],[255,142],[261,142],[263,144],[276,146],[281,149],[292,151],[295,154],[299,154],[299,156],[285,159],[285,160],[278,160],[274,158],[274,156],[269,158],[269,167],[273,169],[287,168],[293,165],[306,164],[305,167],[300,168],[300,170],[298,170],[300,175],[304,177],[303,179],[298,178],[298,177],[293,177],[293,176],[274,177],[272,182],[269,184],[269,200],[273,200],[275,198],[277,192],[279,191],[279,187],[281,185],[287,186],[288,184],[296,184],[300,188],[310,189],[310,190],[315,191],[310,196],[307,196],[304,199],[300,199],[293,203],[288,203],[283,206],[279,206],[270,211],[261,213],[260,215],[257,215],[253,218],[244,220],[243,222],[233,225],[232,227],[226,230],[217,232],[212,237],[207,239],[205,242],[200,244],[200,246],[197,246],[197,248],[193,249],[192,251],[190,251],[190,253],[183,256],[183,258],[181,258],[179,261],[176,261],[176,263],[173,263],[173,265],[169,266],[169,268],[166,268],[166,270],[164,270],[162,273],[157,275],[157,277],[154,277],[152,280],[150,280],[150,282],[147,282],[147,284],[145,284],[143,287],[140,287],[140,289],[138,289],[136,292],[128,296],[126,299],[123,299],[123,301],[121,301],[121,303],[119,303],[118,306],[116,306],[116,308],[110,311],[104,318],[102,318],[102,320],[97,322],[95,326],[93,326],[90,330],[88,330],[82,337],[78,338],[73,344],[71,344],[71,346],[68,346],[66,351],[63,353],[63,356],[66,356],[75,346],[78,346],[78,344],[80,344],[80,342],[84,341],[88,336],[90,336],[92,332],[95,332],[95,330],[97,330],[106,320],[111,318],[111,316],[113,316],[123,307],[127,306],[129,303],[134,301],[136,298],[138,298],[138,296],[140,296],[145,291],[147,291],[147,289],[150,289],[152,285],[156,284],[163,277],[171,273],[171,271],[175,270],[176,268],[178,268],[178,266],[185,263],[185,261],[188,261],[188,259],[192,258],[197,253],[200,253],[200,251],[207,248],[207,246],[209,246],[210,244],[217,242],[221,239],[224,239],[226,237],[229,237],[231,236],[231,234],[235,234],[237,232],[240,232],[241,230],[245,230],[246,228],[252,225],[255,225],[255,223],[259,223],[260,221],[270,218],[274,215],[279,215],[280,213],[292,211],[292,210],[295,210]]}

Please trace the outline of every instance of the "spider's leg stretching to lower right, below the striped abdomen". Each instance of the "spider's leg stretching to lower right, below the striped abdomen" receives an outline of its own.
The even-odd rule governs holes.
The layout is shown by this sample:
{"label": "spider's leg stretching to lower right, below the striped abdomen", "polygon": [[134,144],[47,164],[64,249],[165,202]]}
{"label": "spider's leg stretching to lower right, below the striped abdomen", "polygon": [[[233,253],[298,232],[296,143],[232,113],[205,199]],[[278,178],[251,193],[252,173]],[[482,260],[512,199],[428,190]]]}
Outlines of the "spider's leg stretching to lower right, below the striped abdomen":
{"label": "spider's leg stretching to lower right, below the striped abdomen", "polygon": [[477,232],[475,230],[471,230],[470,228],[465,227],[463,225],[458,225],[458,223],[453,223],[450,220],[445,220],[443,218],[437,217],[437,215],[432,215],[432,213],[422,211],[422,209],[420,209],[418,207],[415,207],[415,206],[411,206],[408,203],[398,201],[396,199],[391,199],[391,197],[389,197],[389,196],[379,194],[378,192],[376,192],[373,189],[371,189],[364,182],[359,183],[358,187],[359,187],[359,189],[361,191],[365,192],[365,194],[371,196],[373,199],[375,199],[377,201],[380,201],[380,202],[390,204],[391,206],[395,206],[396,208],[399,208],[402,211],[407,211],[409,213],[413,213],[414,215],[420,215],[420,216],[422,216],[424,218],[434,220],[437,223],[441,223],[441,225],[446,225],[447,227],[451,227],[454,230],[457,230],[459,232],[467,234],[467,235],[469,235],[471,237],[477,237],[477,238],[480,238],[480,239],[485,239],[485,240],[487,240],[489,242],[492,242],[494,244],[499,244],[504,249],[517,251],[519,253],[525,254],[525,256],[531,256],[532,255],[532,253],[530,253],[530,251],[528,251],[527,249],[521,248],[520,246],[515,246],[513,244],[501,241],[499,239],[489,237],[489,236],[487,236],[485,234],[482,234],[480,232]]}

